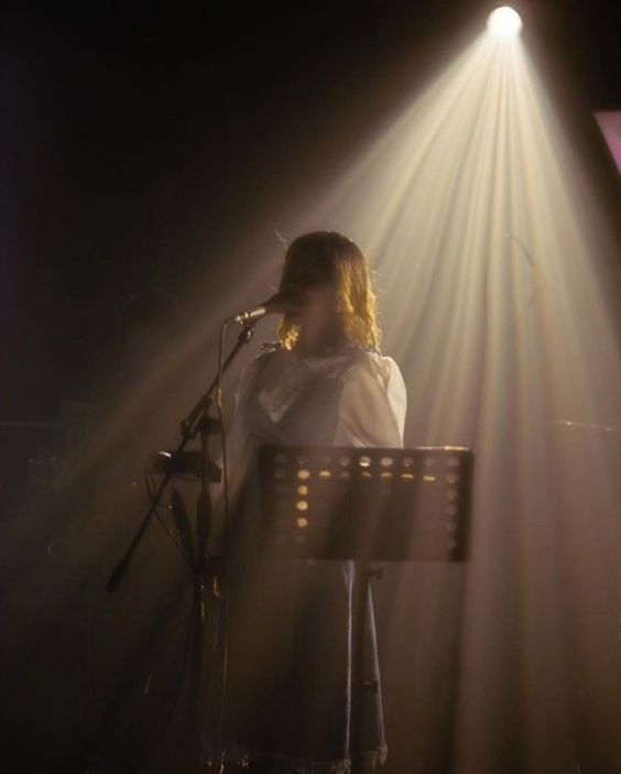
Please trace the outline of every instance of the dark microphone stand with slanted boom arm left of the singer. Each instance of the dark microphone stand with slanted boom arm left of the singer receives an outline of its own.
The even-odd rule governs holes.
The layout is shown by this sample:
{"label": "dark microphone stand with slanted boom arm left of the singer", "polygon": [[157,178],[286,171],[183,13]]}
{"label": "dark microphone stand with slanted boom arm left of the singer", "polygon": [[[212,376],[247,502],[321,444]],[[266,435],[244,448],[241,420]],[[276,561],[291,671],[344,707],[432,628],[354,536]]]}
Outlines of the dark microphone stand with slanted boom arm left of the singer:
{"label": "dark microphone stand with slanted boom arm left of the singer", "polygon": [[[151,501],[151,506],[143,517],[135,535],[133,536],[129,547],[123,556],[117,563],[107,584],[106,591],[113,593],[121,585],[130,562],[140,545],[146,527],[151,523],[153,514],[157,510],[164,491],[173,478],[175,462],[181,457],[187,444],[199,436],[200,438],[200,491],[196,504],[196,555],[188,556],[187,559],[192,566],[194,575],[194,597],[193,597],[193,614],[192,614],[192,644],[190,644],[190,669],[189,669],[189,723],[188,729],[190,737],[190,763],[189,772],[200,772],[200,686],[203,683],[204,671],[204,635],[206,624],[206,579],[208,577],[208,557],[207,545],[211,533],[211,497],[209,493],[209,481],[213,480],[215,465],[209,459],[208,438],[210,435],[221,432],[220,423],[209,416],[209,410],[213,403],[213,395],[219,388],[220,379],[227,371],[230,363],[235,360],[238,352],[247,345],[254,333],[254,326],[259,318],[248,319],[243,324],[243,328],[237,338],[237,342],[229,352],[228,357],[218,368],[218,373],[209,384],[207,392],[199,399],[196,405],[192,408],[186,418],[179,423],[181,440],[174,450],[166,472],[164,473],[155,494]],[[226,324],[225,324],[226,325]],[[211,475],[210,475],[211,472]],[[218,472],[219,469],[218,469]]]}

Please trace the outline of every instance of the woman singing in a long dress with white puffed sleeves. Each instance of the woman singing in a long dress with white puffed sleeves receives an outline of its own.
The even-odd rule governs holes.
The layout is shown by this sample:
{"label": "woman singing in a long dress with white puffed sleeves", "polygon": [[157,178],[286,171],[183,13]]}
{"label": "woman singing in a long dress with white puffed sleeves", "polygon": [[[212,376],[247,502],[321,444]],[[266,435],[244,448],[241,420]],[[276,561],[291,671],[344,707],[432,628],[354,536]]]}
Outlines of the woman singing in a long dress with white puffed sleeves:
{"label": "woman singing in a long dress with white puffed sleeves", "polygon": [[[280,283],[280,341],[250,363],[228,436],[232,509],[226,760],[251,771],[349,767],[351,563],[257,557],[253,455],[262,444],[403,445],[405,386],[379,351],[367,259],[335,232],[298,237]],[[366,664],[379,683],[372,601]],[[366,761],[383,762],[381,690],[363,716]]]}

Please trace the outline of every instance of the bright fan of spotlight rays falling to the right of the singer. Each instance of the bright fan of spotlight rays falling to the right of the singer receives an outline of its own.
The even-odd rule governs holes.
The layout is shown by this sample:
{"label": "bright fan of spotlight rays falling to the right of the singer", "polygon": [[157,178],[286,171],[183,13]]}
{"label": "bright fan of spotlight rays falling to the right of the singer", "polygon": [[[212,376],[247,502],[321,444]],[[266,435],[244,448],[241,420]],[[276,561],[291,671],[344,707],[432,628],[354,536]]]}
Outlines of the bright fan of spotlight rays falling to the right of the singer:
{"label": "bright fan of spotlight rays falling to the right of the singer", "polygon": [[[614,768],[619,252],[520,41],[476,41],[294,230],[326,227],[374,263],[407,443],[477,455],[454,765],[560,771],[595,755]],[[416,632],[386,624],[389,663],[411,648],[423,715],[437,708],[433,632],[450,628],[438,574],[412,568],[391,597]],[[414,585],[426,592],[412,597]],[[403,695],[390,667],[384,685]],[[423,728],[413,705],[401,716]]]}

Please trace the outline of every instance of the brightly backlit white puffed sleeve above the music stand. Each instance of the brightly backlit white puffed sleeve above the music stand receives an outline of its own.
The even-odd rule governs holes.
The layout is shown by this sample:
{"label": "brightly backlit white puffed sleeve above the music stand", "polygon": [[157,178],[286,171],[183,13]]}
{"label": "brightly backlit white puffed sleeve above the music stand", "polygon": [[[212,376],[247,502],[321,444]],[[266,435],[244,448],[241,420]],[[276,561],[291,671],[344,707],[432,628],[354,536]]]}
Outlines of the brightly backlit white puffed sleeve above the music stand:
{"label": "brightly backlit white puffed sleeve above the music stand", "polygon": [[344,378],[335,446],[403,446],[406,392],[392,358],[368,353]]}

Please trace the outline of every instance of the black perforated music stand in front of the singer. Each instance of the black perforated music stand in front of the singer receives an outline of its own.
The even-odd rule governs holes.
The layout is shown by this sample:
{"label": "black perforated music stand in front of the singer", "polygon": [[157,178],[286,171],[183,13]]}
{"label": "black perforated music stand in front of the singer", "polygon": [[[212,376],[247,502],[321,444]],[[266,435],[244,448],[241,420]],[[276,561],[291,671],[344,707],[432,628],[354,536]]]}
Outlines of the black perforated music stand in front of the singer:
{"label": "black perforated music stand in front of the singer", "polygon": [[268,556],[353,559],[351,772],[362,771],[363,655],[371,560],[464,562],[473,455],[414,449],[264,446],[261,547]]}

